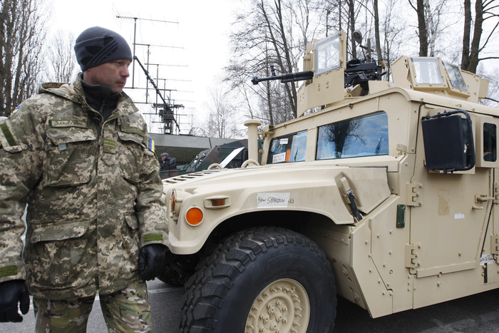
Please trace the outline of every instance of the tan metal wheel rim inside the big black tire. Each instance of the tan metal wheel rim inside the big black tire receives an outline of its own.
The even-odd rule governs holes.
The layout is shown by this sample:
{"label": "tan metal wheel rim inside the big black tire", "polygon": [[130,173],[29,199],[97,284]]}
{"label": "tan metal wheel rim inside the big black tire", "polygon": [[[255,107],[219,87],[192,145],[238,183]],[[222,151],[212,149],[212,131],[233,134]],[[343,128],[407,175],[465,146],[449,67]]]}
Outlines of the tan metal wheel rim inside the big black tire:
{"label": "tan metal wheel rim inside the big black tire", "polygon": [[307,290],[297,280],[277,280],[254,299],[245,333],[305,333],[309,319]]}

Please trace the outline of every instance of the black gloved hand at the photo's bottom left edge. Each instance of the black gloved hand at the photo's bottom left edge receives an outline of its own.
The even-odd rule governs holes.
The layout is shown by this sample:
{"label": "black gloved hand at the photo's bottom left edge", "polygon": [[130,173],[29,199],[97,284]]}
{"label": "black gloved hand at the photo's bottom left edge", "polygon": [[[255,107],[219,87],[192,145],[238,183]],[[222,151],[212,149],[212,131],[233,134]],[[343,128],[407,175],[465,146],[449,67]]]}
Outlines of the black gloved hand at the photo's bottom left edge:
{"label": "black gloved hand at the photo's bottom left edge", "polygon": [[29,311],[29,293],[24,280],[0,282],[0,322],[22,322],[17,311],[17,303],[22,314]]}

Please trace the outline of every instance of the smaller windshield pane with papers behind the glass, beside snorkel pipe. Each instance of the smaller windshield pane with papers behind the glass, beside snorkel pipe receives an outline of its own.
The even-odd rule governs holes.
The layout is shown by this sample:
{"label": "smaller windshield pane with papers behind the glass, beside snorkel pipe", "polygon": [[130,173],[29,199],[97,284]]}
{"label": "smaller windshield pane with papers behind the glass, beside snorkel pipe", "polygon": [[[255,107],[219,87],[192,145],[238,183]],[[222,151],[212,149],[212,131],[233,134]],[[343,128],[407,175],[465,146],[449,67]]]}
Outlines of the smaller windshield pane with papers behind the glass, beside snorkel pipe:
{"label": "smaller windshield pane with papers behind the glass, beside snorkel pipe", "polygon": [[307,130],[273,138],[270,142],[267,164],[305,160]]}

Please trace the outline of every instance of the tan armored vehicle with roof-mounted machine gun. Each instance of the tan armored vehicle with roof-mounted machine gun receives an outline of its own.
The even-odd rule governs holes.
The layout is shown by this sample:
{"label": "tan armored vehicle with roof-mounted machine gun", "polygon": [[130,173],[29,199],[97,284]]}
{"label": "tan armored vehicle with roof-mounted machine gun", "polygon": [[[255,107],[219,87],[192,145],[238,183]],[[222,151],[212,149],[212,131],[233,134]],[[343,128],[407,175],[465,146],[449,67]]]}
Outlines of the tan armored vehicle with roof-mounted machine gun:
{"label": "tan armored vehicle with roof-mounted machine gun", "polygon": [[499,287],[488,81],[440,58],[398,58],[393,83],[381,67],[347,62],[343,32],[315,41],[304,72],[253,79],[303,80],[315,112],[247,121],[242,168],[164,180],[182,332],[331,332],[336,294],[381,317]]}

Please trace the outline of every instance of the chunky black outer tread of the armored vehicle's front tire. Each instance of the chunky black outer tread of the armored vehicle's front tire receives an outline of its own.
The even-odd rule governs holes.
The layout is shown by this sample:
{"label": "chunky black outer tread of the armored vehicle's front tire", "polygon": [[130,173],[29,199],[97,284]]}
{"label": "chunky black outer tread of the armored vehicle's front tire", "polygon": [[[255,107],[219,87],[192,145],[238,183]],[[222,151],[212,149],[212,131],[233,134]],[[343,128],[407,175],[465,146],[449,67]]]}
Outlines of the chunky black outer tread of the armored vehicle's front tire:
{"label": "chunky black outer tread of the armored vehicle's front tire", "polygon": [[[182,308],[180,332],[217,332],[217,311],[223,306],[225,296],[230,292],[237,277],[245,272],[247,265],[257,260],[260,253],[267,252],[269,248],[289,244],[311,250],[324,266],[329,267],[329,276],[322,278],[331,281],[336,302],[336,287],[330,264],[324,252],[312,240],[280,227],[251,228],[235,232],[215,247],[210,256],[198,263],[195,274],[185,284],[187,298]],[[334,308],[336,309],[336,304]]]}

